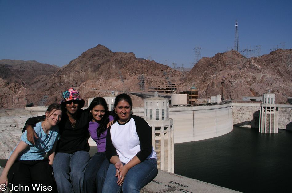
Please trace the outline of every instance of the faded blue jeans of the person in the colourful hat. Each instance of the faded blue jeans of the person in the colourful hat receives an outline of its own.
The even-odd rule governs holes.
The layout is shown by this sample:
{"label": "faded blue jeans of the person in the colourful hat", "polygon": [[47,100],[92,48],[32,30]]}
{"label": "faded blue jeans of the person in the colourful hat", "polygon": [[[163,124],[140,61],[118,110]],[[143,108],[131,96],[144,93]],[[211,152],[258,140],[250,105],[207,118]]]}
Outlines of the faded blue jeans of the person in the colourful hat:
{"label": "faded blue jeans of the person in the colourful hat", "polygon": [[84,172],[89,159],[90,155],[86,151],[56,154],[53,171],[59,193],[83,192]]}

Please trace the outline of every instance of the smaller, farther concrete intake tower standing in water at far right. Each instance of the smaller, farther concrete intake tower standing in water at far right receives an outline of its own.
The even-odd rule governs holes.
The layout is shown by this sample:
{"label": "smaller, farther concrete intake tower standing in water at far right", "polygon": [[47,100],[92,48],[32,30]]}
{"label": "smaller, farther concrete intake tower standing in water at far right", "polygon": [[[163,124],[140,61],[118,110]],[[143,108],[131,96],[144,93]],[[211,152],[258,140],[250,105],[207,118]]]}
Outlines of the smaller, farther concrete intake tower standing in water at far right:
{"label": "smaller, farther concrete intake tower standing in water at far right", "polygon": [[260,108],[259,132],[278,133],[278,108],[276,107],[276,95],[264,93]]}

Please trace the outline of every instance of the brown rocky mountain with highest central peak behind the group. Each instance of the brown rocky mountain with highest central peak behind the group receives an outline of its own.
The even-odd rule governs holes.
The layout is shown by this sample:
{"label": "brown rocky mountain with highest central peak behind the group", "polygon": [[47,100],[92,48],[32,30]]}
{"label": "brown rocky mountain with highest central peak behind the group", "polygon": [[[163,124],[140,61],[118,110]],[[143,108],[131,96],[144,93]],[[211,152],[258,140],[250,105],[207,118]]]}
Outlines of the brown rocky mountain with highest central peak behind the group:
{"label": "brown rocky mountain with highest central peak behind the group", "polygon": [[181,72],[163,64],[137,59],[132,52],[112,52],[105,46],[97,45],[55,73],[34,79],[28,89],[28,103],[59,102],[62,92],[69,87],[78,87],[85,100],[109,95],[112,90],[139,91],[138,77],[141,74],[145,77],[146,88],[166,83],[167,79],[178,82],[181,78]]}

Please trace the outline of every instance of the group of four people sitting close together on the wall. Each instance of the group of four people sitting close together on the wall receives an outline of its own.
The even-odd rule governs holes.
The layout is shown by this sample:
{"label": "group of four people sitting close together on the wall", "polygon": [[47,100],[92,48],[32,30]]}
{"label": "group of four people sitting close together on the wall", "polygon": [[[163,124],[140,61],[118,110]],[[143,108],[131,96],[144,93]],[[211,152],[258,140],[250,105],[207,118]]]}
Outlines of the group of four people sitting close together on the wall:
{"label": "group of four people sitting close together on the wall", "polygon": [[[41,183],[55,187],[55,178],[55,191],[59,193],[127,193],[140,192],[142,187],[156,177],[157,156],[152,147],[152,129],[143,118],[132,114],[130,96],[120,94],[116,97],[115,118],[109,115],[104,98],[95,98],[85,110],[81,109],[85,102],[77,90],[70,88],[63,92],[63,98],[60,102],[64,111],[62,119],[61,106],[58,105],[59,108],[53,109],[49,106],[45,116],[27,120],[27,131],[7,161],[0,183]],[[38,123],[41,118],[44,121]],[[107,129],[109,122],[113,124]],[[91,159],[88,153],[89,133],[98,149]],[[48,137],[49,140],[46,139]],[[44,145],[45,140],[47,143],[50,141],[51,145]],[[42,149],[39,150],[40,148]],[[46,152],[49,159],[44,158]],[[22,163],[18,160],[34,161]],[[49,172],[44,175],[44,170],[32,167],[42,162],[53,164],[53,176],[48,169]],[[24,168],[27,168],[25,171],[32,170],[29,177],[23,177],[26,173],[23,172]],[[16,173],[22,174],[15,177]],[[35,181],[35,178],[40,182]],[[26,180],[19,181],[20,179]]]}

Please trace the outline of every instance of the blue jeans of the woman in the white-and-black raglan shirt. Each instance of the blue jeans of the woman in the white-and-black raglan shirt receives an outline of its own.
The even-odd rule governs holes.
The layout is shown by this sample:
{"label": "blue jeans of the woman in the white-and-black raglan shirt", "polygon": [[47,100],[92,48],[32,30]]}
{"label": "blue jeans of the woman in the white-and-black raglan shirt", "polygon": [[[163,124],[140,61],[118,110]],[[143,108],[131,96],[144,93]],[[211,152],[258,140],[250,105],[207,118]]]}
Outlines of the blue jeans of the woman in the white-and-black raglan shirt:
{"label": "blue jeans of the woman in the white-and-black raglan shirt", "polygon": [[105,177],[102,192],[119,193],[123,190],[123,193],[139,193],[142,187],[157,176],[157,172],[157,160],[153,158],[147,159],[130,168],[124,182],[122,183],[122,186],[119,186],[116,183],[118,181],[118,178],[115,176],[116,167],[114,164],[110,164]]}

